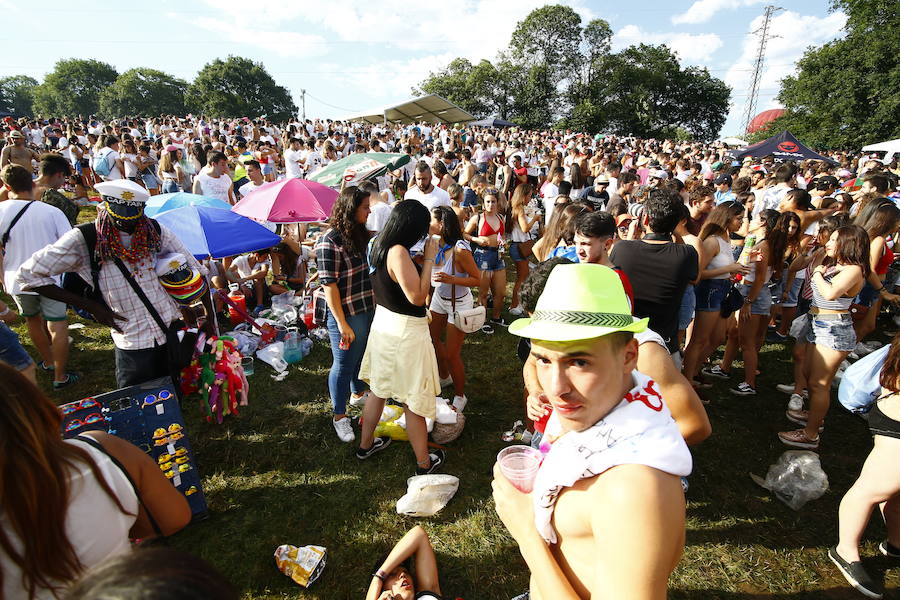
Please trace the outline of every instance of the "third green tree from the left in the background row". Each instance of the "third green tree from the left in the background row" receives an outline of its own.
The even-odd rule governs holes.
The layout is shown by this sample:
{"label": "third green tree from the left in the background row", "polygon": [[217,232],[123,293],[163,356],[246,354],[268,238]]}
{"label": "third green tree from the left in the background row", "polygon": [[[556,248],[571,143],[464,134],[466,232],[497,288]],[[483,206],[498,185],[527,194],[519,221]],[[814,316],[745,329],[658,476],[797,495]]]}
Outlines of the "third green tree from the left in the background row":
{"label": "third green tree from the left in the background row", "polygon": [[183,115],[187,82],[156,69],[125,71],[100,94],[105,117]]}

